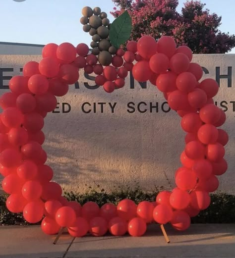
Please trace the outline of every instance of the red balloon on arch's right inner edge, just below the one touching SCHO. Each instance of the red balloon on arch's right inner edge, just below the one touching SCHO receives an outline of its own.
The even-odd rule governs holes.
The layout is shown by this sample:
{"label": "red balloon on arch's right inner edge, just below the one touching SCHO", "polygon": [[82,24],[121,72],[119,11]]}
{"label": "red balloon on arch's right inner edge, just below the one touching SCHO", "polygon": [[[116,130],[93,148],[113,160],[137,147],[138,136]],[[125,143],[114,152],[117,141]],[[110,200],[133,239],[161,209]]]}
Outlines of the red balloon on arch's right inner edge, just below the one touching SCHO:
{"label": "red balloon on arch's right inner edge, just below the one touching SCHO", "polygon": [[181,127],[187,133],[196,133],[201,126],[202,121],[196,113],[188,113],[181,119]]}

